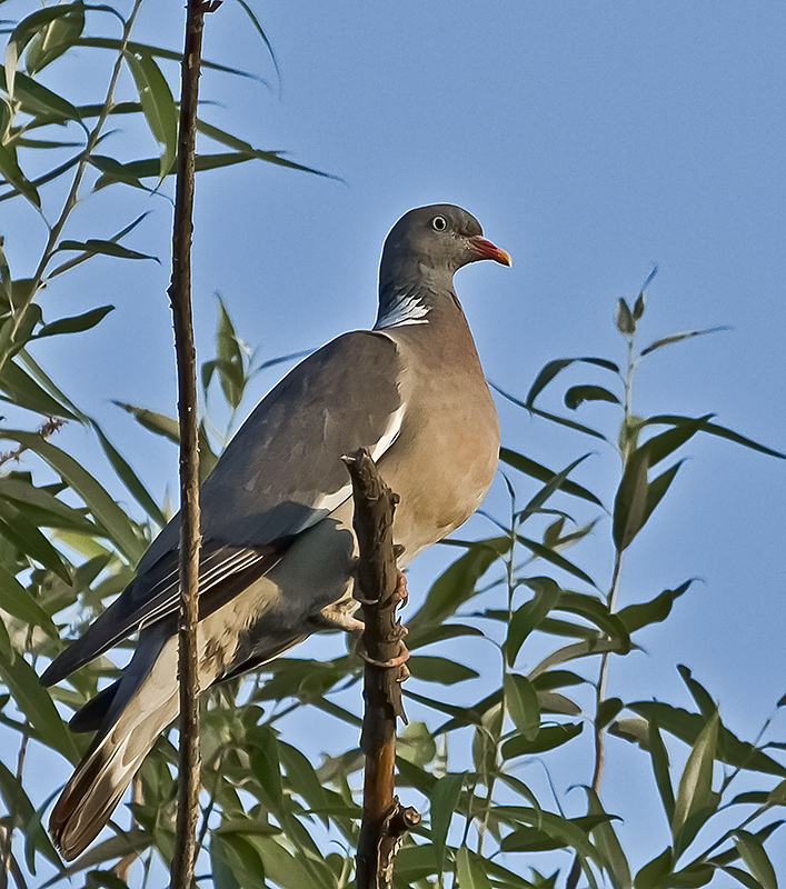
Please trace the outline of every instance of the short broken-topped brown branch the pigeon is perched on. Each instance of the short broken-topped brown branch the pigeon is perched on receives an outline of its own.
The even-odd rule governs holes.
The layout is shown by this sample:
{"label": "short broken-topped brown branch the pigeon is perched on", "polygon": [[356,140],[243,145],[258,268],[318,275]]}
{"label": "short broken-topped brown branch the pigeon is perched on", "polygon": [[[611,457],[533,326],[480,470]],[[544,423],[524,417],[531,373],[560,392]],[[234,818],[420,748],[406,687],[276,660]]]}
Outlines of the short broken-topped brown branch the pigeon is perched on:
{"label": "short broken-topped brown branch the pigeon is perched on", "polygon": [[366,708],[360,738],[366,771],[356,885],[357,889],[388,889],[404,835],[420,821],[414,808],[401,807],[394,796],[396,718],[406,720],[401,681],[408,676],[401,663],[405,629],[396,618],[405,589],[392,539],[398,497],[379,477],[368,451],[361,448],[344,460],[352,479],[354,526],[360,549],[355,595],[366,625]]}

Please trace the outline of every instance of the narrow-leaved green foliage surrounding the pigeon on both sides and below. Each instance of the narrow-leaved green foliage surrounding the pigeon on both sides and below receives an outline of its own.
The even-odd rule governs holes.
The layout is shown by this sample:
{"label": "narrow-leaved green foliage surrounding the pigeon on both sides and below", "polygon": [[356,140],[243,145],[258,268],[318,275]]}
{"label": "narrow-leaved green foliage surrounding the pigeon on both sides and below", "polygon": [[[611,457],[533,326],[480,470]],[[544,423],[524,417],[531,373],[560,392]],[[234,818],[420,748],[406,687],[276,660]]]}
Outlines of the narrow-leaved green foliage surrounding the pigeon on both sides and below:
{"label": "narrow-leaved green foliage surrounding the pigeon on both sides and below", "polygon": [[[51,796],[33,801],[40,777],[27,765],[33,747],[51,751],[52,760],[60,756],[71,762],[84,748],[87,739],[69,732],[66,719],[116,673],[113,663],[100,658],[51,696],[37,672],[61,649],[64,637],[78,635],[123,588],[167,518],[102,428],[60,391],[30,352],[36,340],[82,333],[111,311],[105,306],[44,322],[44,286],[99,254],[118,262],[151,256],[126,242],[141,217],[118,222],[109,238],[80,231],[64,238],[76,224],[78,200],[105,188],[121,193],[123,186],[163,193],[172,169],[176,106],[159,61],[177,59],[177,53],[131,40],[138,6],[128,20],[108,16],[108,7],[79,2],[41,9],[10,29],[0,74],[0,173],[6,183],[0,201],[27,201],[37,213],[41,210],[42,220],[54,219],[44,226],[41,260],[30,277],[14,277],[0,257],[0,390],[9,406],[32,416],[27,427],[34,428],[0,429],[7,442],[0,456],[6,470],[0,477],[0,799],[6,809],[0,863],[19,886],[29,885],[31,875],[44,882],[42,873],[44,885],[76,878],[84,886],[137,886],[156,879],[157,859],[168,861],[172,848],[172,730],[159,739],[135,781],[130,819],[121,807],[115,835],[102,835],[69,867],[62,866],[42,828]],[[98,30],[116,19],[120,37]],[[79,103],[42,82],[42,72],[73,48],[113,53],[110,86],[98,103]],[[211,64],[228,76],[247,76]],[[122,66],[128,66],[137,90],[131,98],[116,96]],[[108,121],[135,116],[159,144],[159,156],[128,160],[99,154],[99,146],[109,151],[105,146],[112,144]],[[205,121],[201,132],[229,149],[202,154],[201,170],[250,159],[305,169]],[[69,144],[74,153],[63,162],[60,152]],[[33,153],[54,158],[38,176],[26,172],[38,166]],[[62,182],[64,188],[51,188]],[[57,266],[59,254],[68,251],[71,258]],[[503,393],[561,427],[569,441],[588,438],[593,447],[615,449],[620,459],[614,485],[591,491],[571,478],[589,459],[587,453],[558,469],[503,448],[504,470],[516,478],[514,483],[506,476],[508,515],[493,519],[491,537],[450,541],[460,551],[458,558],[409,617],[410,669],[419,680],[416,688],[429,688],[428,693],[405,688],[409,707],[422,718],[402,733],[399,785],[420,800],[427,818],[397,858],[399,887],[580,883],[656,889],[700,887],[718,875],[725,875],[726,885],[774,889],[778,883],[768,849],[782,823],[778,810],[786,805],[786,766],[779,759],[782,748],[766,739],[766,726],[753,741],[737,738],[724,725],[714,695],[686,667],[679,669],[693,700],[689,710],[659,700],[657,689],[635,701],[607,693],[611,666],[617,675],[628,669],[641,635],[655,623],[676,620],[677,600],[692,590],[692,579],[685,579],[674,589],[636,598],[635,585],[621,580],[625,556],[675,483],[686,444],[712,436],[783,457],[719,426],[712,414],[635,413],[634,378],[640,361],[710,332],[686,331],[640,348],[650,279],[633,306],[621,299],[617,304],[625,362],[558,359],[546,364],[526,396]],[[206,471],[226,443],[211,417],[228,413],[229,430],[250,377],[275,361],[255,362],[221,302],[216,356],[202,364]],[[563,400],[570,414],[547,410],[541,407],[545,390],[554,389],[568,368],[591,372],[593,381],[566,389]],[[122,407],[147,429],[177,441],[171,417]],[[599,430],[574,419],[578,410],[597,410],[601,418],[616,410],[616,419]],[[64,421],[92,430],[107,467],[90,471],[58,447]],[[99,482],[108,472],[132,496],[132,509],[121,508]],[[610,546],[591,535],[606,521],[604,505]],[[580,541],[584,550],[593,546],[600,556],[608,553],[608,588],[574,558],[570,548]],[[206,696],[198,865],[203,881],[231,889],[351,885],[361,767],[360,670],[352,655],[320,661],[296,653]],[[462,683],[478,676],[482,691],[476,698],[462,693]],[[236,706],[238,699],[241,706]],[[297,730],[300,713],[310,718],[317,711],[336,728],[335,742],[327,736],[324,740],[326,756],[319,766],[304,753]],[[354,740],[341,745],[347,727]],[[620,843],[616,813],[604,805],[609,733],[640,748],[640,768],[651,770],[670,838],[666,848],[651,848],[638,870]],[[587,739],[594,769],[585,775],[576,765],[580,758],[573,755],[585,749]],[[575,781],[586,783],[586,806],[579,813],[568,811],[547,782],[531,780],[534,763],[543,763],[547,776],[567,763]]]}

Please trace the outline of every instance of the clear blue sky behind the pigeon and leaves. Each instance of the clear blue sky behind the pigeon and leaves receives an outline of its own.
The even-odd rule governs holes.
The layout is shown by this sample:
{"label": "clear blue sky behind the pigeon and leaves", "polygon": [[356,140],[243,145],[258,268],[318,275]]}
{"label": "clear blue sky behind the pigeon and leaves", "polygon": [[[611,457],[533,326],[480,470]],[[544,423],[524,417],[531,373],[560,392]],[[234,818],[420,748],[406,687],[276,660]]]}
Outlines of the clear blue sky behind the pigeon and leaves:
{"label": "clear blue sky behind the pigeon and leaves", "polygon": [[[280,82],[240,7],[226,0],[208,18],[206,54],[260,73],[272,89],[207,72],[202,97],[216,104],[203,117],[344,181],[263,164],[201,178],[195,306],[202,358],[212,354],[216,290],[263,357],[370,326],[387,231],[411,207],[451,202],[514,257],[511,270],[479,263],[457,278],[487,376],[501,388],[524,396],[553,358],[621,361],[615,299],[635,299],[657,263],[645,341],[715,324],[732,330],[653,356],[639,374],[637,412],[714,411],[718,422],[786,449],[783,2],[253,6]],[[11,0],[4,14],[21,8]],[[143,9],[141,38],[177,48],[180,29],[180,4]],[[122,153],[123,138],[108,146]],[[152,140],[142,151],[153,153]],[[70,237],[113,233],[107,201],[88,201],[84,228]],[[137,432],[110,403],[173,412],[168,206],[136,193],[128,202],[129,219],[156,210],[130,243],[163,264],[98,259],[52,288],[48,317],[105,302],[117,311],[41,358],[161,491],[176,477],[173,450]],[[23,212],[13,224],[7,248],[23,269],[41,230]],[[260,377],[257,394],[273,380]],[[585,380],[603,382],[570,377]],[[559,407],[556,394],[550,407]],[[500,413],[504,443],[543,462],[561,467],[596,449],[509,406]],[[614,423],[606,406],[585,406],[576,418],[609,430]],[[81,432],[68,434],[90,451]],[[685,661],[722,701],[729,727],[752,739],[786,691],[786,465],[709,439],[694,440],[686,453],[675,489],[631,547],[623,601],[693,576],[704,583],[680,600],[668,633],[648,635],[647,655],[636,656],[640,685],[618,692],[688,706],[675,670]],[[614,469],[599,452],[576,477],[599,491],[605,485],[608,503]],[[489,508],[505,508],[499,483]],[[476,521],[472,531],[487,526]],[[610,569],[608,533],[601,522],[573,553],[598,578]],[[428,577],[414,573],[416,599]],[[775,729],[783,738],[783,716]],[[618,743],[614,751],[629,762]]]}

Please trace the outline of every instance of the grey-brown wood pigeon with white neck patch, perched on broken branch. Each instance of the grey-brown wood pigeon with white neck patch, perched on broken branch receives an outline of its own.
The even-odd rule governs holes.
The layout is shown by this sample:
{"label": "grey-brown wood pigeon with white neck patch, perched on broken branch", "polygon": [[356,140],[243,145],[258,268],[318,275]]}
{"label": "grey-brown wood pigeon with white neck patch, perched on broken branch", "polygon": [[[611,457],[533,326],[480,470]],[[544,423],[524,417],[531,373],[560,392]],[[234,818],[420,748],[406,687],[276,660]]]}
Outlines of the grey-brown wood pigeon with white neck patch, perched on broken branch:
{"label": "grey-brown wood pigeon with white neck patch, perched on broken branch", "polygon": [[[312,352],[255,408],[200,491],[199,688],[255,670],[319,630],[350,630],[357,541],[342,457],[366,448],[400,498],[398,568],[480,506],[499,422],[454,273],[511,264],[452,204],[405,213],[388,234],[370,330]],[[66,860],[109,821],[157,737],[179,711],[176,516],[136,576],[46,669],[44,686],[138,632],[113,685],[71,720],[94,731],[49,820]]]}

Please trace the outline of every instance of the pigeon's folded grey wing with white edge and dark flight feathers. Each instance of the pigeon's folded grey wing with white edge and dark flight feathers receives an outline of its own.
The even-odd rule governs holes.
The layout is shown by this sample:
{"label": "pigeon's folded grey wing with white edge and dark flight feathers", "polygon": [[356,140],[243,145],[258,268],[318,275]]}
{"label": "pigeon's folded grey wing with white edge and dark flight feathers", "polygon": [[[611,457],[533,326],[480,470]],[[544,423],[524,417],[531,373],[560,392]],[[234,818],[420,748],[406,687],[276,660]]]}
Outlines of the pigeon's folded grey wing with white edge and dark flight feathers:
{"label": "pigeon's folded grey wing with white edge and dark flight feathers", "polygon": [[[346,333],[296,367],[257,406],[202,486],[200,615],[269,571],[292,540],[351,493],[341,457],[376,459],[396,440],[406,404],[389,338]],[[142,557],[135,580],[46,670],[59,682],[179,602],[179,517]]]}

